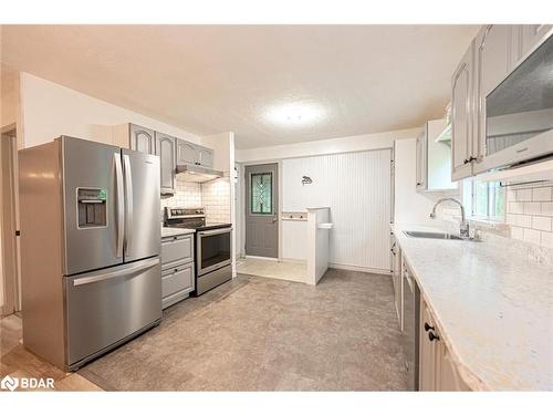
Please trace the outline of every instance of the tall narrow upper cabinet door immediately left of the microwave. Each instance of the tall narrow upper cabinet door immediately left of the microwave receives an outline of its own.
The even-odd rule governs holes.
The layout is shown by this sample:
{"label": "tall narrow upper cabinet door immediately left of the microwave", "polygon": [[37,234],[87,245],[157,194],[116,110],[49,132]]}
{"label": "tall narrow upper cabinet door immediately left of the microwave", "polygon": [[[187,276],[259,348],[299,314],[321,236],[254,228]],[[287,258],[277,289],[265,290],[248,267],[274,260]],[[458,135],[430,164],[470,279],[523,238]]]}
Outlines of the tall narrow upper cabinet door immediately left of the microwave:
{"label": "tall narrow upper cabinet door immediately left of the microwave", "polygon": [[462,56],[451,79],[451,177],[459,180],[472,175],[472,139],[474,108],[474,42]]}

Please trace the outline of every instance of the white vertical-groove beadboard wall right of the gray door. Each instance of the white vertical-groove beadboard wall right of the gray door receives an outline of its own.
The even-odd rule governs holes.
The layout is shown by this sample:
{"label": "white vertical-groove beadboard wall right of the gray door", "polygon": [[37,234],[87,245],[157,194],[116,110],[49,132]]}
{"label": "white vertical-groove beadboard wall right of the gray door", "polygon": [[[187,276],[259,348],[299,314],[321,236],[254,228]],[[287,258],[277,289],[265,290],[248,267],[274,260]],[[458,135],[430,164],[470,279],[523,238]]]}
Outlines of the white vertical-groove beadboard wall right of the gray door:
{"label": "white vertical-groove beadboard wall right of the gray door", "polygon": [[283,211],[331,208],[331,263],[389,273],[390,159],[382,149],[282,162]]}

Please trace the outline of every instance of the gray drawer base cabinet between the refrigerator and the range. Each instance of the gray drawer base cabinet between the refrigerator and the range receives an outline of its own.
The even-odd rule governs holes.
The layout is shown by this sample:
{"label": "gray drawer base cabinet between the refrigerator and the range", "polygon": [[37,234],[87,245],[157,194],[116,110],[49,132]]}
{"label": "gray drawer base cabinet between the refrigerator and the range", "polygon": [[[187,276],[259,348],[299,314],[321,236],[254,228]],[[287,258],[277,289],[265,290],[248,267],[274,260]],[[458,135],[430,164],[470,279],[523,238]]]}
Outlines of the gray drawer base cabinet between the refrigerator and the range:
{"label": "gray drawer base cabinet between the refrigerator and the range", "polygon": [[194,234],[161,238],[161,305],[186,298],[195,288]]}

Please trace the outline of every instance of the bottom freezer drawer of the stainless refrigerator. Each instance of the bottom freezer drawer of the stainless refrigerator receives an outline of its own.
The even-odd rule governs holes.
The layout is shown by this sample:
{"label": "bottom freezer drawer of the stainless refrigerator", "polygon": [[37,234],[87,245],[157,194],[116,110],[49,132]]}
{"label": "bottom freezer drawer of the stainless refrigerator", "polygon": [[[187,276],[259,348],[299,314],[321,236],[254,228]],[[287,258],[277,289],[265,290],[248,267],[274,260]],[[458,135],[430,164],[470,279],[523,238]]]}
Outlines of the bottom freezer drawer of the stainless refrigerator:
{"label": "bottom freezer drawer of the stainless refrigerator", "polygon": [[161,318],[160,272],[155,257],[65,277],[69,367]]}

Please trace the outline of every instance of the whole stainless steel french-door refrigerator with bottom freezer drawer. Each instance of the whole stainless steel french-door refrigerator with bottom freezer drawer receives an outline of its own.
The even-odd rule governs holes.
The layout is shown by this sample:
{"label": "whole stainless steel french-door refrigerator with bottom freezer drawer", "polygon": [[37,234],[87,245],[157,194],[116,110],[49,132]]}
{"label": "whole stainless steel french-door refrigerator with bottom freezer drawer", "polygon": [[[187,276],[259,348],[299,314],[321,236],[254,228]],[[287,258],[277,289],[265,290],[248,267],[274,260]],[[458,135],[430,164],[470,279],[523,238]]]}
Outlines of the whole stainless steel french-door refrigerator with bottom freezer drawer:
{"label": "whole stainless steel french-door refrigerator with bottom freezer drawer", "polygon": [[76,370],[159,323],[159,157],[67,136],[19,153],[23,344]]}

